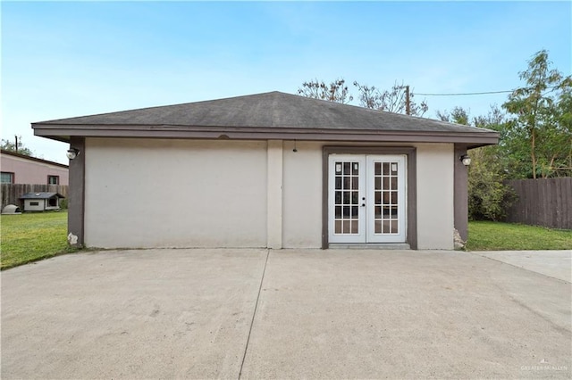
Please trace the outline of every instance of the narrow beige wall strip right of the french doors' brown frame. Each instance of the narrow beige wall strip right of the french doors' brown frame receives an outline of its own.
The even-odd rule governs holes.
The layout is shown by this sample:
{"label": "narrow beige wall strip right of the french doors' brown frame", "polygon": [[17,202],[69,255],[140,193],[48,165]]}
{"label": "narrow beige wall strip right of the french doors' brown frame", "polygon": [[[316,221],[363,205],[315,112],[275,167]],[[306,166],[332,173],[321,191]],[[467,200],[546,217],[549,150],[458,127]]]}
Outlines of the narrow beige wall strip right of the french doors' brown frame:
{"label": "narrow beige wall strip right of the french doors' brown frame", "polygon": [[452,250],[454,147],[417,145],[417,248]]}

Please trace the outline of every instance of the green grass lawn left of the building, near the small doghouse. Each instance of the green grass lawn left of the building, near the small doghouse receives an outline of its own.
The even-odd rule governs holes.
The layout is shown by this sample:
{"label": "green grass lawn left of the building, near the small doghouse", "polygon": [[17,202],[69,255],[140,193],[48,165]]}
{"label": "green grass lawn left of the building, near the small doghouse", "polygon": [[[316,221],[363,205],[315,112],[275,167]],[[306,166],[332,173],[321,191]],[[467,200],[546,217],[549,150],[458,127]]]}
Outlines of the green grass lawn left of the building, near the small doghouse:
{"label": "green grass lawn left of the building, near the small doghouse", "polygon": [[46,259],[68,248],[67,211],[2,215],[1,268],[12,268],[30,261]]}

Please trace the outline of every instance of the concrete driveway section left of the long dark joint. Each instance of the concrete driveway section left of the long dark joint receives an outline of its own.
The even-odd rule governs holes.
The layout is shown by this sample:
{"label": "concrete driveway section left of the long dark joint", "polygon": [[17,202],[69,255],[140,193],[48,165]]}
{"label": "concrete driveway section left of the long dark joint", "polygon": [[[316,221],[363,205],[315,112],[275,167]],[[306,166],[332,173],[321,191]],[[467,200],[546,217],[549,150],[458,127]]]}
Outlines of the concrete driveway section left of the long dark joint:
{"label": "concrete driveway section left of the long dark joint", "polygon": [[265,250],[60,256],[2,273],[2,378],[236,378]]}

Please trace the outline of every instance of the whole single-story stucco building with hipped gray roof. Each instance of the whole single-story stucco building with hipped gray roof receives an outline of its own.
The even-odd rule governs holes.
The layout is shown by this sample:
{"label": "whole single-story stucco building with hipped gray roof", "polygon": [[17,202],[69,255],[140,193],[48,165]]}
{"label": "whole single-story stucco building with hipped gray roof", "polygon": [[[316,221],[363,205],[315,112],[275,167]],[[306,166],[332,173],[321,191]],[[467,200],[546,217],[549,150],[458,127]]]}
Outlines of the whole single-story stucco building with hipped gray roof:
{"label": "whole single-story stucco building with hipped gray roof", "polygon": [[102,248],[453,248],[492,130],[271,92],[32,124],[69,142],[69,232]]}

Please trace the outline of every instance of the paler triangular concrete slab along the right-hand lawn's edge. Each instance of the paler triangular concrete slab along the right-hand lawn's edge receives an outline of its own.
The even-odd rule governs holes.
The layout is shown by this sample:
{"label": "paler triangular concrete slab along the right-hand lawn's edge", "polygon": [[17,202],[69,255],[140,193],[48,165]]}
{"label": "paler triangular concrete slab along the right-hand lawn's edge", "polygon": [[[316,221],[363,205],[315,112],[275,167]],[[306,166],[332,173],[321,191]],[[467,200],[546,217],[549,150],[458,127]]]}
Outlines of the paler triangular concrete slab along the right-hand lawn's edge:
{"label": "paler triangular concrete slab along the right-hand lawn's edge", "polygon": [[572,282],[572,250],[471,252],[518,268]]}

